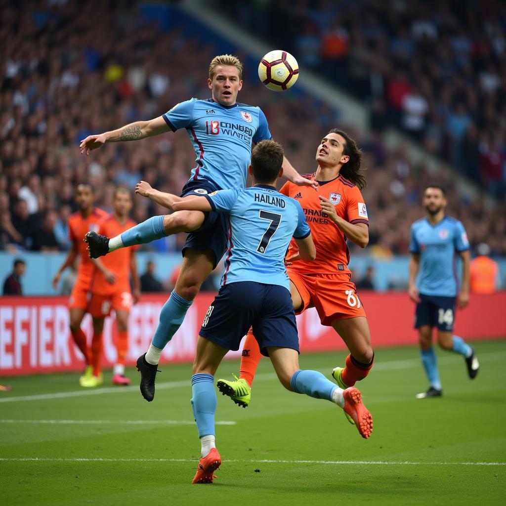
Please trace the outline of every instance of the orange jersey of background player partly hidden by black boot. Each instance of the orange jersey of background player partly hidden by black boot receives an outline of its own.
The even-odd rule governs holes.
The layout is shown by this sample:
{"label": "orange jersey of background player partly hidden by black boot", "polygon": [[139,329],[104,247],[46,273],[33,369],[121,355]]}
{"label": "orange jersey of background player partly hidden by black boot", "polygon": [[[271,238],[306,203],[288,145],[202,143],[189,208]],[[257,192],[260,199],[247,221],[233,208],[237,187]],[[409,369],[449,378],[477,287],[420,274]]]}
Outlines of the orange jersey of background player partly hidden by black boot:
{"label": "orange jersey of background player partly hidden by black boot", "polygon": [[[98,233],[107,237],[115,237],[125,230],[136,225],[130,218],[121,224],[114,215],[107,215],[100,222]],[[132,254],[140,246],[131,246],[127,248],[111,251],[105,257],[100,258],[102,265],[115,274],[116,281],[110,284],[105,280],[104,275],[97,269],[93,279],[92,292],[100,295],[108,295],[115,292],[130,292],[130,261]]]}

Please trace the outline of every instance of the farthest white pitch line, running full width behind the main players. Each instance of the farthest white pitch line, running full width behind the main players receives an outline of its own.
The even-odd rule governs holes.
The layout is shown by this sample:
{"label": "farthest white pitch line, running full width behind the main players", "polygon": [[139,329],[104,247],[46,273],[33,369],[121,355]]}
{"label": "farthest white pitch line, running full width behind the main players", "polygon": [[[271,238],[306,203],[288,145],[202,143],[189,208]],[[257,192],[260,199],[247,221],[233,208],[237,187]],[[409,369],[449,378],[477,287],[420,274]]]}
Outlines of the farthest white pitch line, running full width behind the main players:
{"label": "farthest white pitch line, running full width behind the main players", "polygon": [[[483,353],[479,355],[478,359],[481,362],[495,362],[506,359],[506,352],[490,352]],[[447,356],[447,357],[438,357],[438,361],[440,364],[450,364],[454,363],[455,356]],[[168,364],[170,365],[170,364]],[[407,360],[391,360],[388,362],[379,362],[374,365],[374,372],[381,372],[392,369],[411,369],[412,367],[417,367],[420,365],[420,361],[418,359],[407,359]],[[255,381],[267,381],[269,379],[276,378],[276,374],[273,372],[266,372],[262,374],[257,374],[255,376]],[[175,381],[175,382],[165,382],[165,383],[157,383],[156,389],[163,390],[167,388],[188,388],[190,385],[190,381]],[[106,388],[98,388],[95,390],[75,390],[72,392],[55,392],[52,394],[37,394],[37,395],[21,395],[17,397],[4,397],[0,399],[1,402],[19,402],[19,401],[43,401],[46,399],[67,399],[70,397],[82,397],[86,395],[102,395],[102,394],[121,394],[127,392],[138,392],[138,386],[130,386],[130,387],[106,387]]]}

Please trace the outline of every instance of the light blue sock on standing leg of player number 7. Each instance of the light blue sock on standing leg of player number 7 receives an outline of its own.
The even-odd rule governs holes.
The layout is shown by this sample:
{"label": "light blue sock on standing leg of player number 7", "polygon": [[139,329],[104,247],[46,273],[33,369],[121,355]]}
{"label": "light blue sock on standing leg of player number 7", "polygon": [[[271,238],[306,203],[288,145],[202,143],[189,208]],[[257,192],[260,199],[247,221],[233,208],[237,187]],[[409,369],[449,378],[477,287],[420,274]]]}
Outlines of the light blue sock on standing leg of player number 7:
{"label": "light blue sock on standing leg of player number 7", "polygon": [[210,374],[193,374],[191,377],[193,416],[198,437],[215,435],[216,391]]}

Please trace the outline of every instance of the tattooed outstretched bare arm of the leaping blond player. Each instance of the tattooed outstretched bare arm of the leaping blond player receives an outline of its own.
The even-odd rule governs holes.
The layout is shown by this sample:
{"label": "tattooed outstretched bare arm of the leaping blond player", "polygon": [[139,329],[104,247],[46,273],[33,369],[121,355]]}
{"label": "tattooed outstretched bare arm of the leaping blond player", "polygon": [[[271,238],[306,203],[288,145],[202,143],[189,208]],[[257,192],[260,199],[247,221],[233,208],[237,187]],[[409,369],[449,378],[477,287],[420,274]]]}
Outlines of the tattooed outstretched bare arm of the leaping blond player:
{"label": "tattooed outstretched bare arm of the leaping blond player", "polygon": [[103,134],[89,135],[81,141],[79,149],[81,155],[89,155],[90,151],[100,148],[106,142],[139,141],[165,132],[172,132],[172,130],[163,117],[158,116],[148,121],[136,121]]}

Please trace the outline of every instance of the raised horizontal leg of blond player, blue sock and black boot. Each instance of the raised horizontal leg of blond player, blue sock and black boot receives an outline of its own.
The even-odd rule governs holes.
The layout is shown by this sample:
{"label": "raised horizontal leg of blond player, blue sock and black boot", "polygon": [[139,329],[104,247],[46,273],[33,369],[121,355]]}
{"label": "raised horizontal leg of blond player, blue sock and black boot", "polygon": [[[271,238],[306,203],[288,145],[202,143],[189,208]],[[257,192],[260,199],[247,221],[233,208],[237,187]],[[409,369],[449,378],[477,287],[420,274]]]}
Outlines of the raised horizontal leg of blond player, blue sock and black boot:
{"label": "raised horizontal leg of blond player, blue sock and black boot", "polygon": [[192,232],[202,226],[205,214],[201,211],[177,211],[170,215],[153,216],[115,237],[96,232],[85,236],[92,258],[102,257],[119,248],[145,244],[167,235]]}

